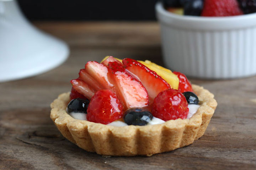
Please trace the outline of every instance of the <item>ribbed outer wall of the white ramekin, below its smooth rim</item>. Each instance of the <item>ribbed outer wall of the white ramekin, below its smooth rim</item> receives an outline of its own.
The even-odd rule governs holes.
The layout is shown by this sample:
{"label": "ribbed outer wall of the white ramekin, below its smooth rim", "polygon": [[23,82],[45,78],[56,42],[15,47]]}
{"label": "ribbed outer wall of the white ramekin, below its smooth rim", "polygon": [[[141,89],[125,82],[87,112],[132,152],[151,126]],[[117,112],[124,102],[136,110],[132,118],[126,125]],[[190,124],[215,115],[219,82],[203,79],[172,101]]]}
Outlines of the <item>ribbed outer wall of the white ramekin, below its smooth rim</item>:
{"label": "ribbed outer wall of the white ramekin, below its smooth rim", "polygon": [[239,78],[256,74],[256,27],[200,31],[161,24],[165,64],[199,78]]}

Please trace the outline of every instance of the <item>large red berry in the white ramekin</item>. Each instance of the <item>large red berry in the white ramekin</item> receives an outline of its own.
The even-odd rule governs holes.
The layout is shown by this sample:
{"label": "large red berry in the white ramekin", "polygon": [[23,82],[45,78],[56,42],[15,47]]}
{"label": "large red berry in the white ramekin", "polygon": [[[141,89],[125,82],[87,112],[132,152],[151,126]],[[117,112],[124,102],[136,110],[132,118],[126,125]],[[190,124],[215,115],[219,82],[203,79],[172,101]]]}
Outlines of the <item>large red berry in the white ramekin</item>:
{"label": "large red berry in the white ramekin", "polygon": [[237,0],[205,0],[202,16],[224,17],[242,15]]}

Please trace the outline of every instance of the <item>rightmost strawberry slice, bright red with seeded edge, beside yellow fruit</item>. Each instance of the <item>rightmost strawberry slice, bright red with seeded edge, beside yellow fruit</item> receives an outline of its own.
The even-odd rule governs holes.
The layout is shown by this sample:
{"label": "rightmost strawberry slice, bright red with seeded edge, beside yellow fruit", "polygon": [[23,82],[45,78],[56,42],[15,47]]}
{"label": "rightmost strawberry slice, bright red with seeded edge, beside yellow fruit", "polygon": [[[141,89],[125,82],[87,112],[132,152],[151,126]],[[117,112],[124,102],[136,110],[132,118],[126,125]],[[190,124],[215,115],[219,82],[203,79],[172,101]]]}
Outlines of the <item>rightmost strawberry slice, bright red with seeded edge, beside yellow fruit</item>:
{"label": "rightmost strawberry slice, bright red with seeded edge, beside yellow fruit", "polygon": [[144,66],[142,63],[130,58],[125,58],[123,60],[123,64],[124,67],[129,70],[129,72],[135,74],[139,78],[140,82],[146,88],[150,103],[153,103],[154,98],[161,91],[171,89],[169,83],[156,74],[156,72]]}

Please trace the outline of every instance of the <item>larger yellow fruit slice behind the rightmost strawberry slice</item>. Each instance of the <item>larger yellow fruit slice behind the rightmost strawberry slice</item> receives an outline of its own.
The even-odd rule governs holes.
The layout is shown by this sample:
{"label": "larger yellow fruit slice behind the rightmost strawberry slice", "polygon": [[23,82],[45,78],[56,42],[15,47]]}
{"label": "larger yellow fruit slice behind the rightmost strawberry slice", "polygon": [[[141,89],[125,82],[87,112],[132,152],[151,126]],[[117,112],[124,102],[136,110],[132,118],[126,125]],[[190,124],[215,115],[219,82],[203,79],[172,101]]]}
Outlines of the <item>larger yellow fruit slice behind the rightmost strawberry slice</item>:
{"label": "larger yellow fruit slice behind the rightmost strawberry slice", "polygon": [[160,75],[165,81],[167,81],[167,83],[170,84],[170,86],[173,89],[178,89],[179,79],[178,79],[177,75],[172,73],[171,70],[161,67],[149,60],[138,61],[138,62],[142,63],[143,65],[148,67],[150,70],[153,70],[154,72],[156,72],[156,74]]}

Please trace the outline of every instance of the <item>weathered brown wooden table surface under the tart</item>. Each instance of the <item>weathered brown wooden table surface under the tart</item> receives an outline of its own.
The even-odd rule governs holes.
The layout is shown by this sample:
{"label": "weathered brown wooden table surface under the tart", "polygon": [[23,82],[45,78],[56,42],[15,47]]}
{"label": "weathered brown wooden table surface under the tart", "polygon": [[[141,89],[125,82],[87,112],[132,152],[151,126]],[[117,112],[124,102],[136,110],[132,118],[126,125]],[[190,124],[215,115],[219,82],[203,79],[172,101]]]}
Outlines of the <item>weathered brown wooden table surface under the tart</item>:
{"label": "weathered brown wooden table surface under the tart", "polygon": [[[49,118],[50,103],[70,90],[87,61],[104,56],[149,59],[163,65],[155,22],[40,22],[66,41],[70,56],[35,77],[0,83],[0,169],[256,169],[256,77],[198,80],[218,107],[192,145],[152,157],[102,157],[66,140]],[[4,74],[4,73],[1,73]]]}

